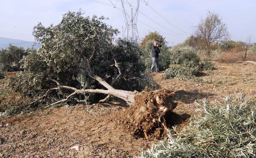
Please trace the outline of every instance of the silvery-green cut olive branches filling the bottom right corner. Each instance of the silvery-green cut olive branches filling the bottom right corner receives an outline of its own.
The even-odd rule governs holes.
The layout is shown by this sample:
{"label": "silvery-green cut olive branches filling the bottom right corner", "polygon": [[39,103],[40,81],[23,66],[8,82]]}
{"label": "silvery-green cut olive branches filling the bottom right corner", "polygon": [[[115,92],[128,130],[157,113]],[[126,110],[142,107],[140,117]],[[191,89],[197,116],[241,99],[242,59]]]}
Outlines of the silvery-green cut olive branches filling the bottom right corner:
{"label": "silvery-green cut olive branches filling the bottom right corner", "polygon": [[140,158],[256,157],[255,102],[224,101],[196,103],[200,108],[189,126],[181,131],[174,127],[168,139],[142,151]]}

